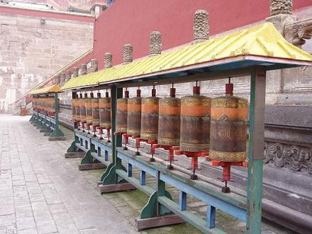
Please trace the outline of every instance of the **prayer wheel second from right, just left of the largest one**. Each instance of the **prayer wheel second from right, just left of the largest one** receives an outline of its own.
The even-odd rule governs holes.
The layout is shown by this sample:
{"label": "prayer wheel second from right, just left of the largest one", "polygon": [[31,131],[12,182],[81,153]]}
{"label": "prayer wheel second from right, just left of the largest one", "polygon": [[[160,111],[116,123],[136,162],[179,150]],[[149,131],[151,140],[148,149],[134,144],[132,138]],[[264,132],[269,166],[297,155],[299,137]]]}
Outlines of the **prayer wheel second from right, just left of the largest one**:
{"label": "prayer wheel second from right, just left of the largest one", "polygon": [[193,87],[193,96],[181,98],[180,150],[208,152],[211,98],[200,96],[200,87]]}

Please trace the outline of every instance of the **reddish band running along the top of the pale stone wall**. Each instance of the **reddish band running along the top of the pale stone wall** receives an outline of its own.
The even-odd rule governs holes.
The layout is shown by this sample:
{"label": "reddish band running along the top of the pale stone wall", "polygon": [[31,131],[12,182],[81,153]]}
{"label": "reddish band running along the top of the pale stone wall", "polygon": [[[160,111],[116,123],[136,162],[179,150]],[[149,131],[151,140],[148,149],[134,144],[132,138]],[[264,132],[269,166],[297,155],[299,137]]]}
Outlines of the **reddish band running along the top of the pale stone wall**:
{"label": "reddish band running along the top of the pale stone wall", "polygon": [[0,5],[0,14],[6,13],[10,15],[26,15],[31,17],[42,17],[42,18],[52,18],[52,19],[67,19],[74,21],[84,21],[84,22],[93,22],[94,17],[91,15],[74,15],[70,12],[59,12],[56,11],[47,11],[47,10],[31,10],[24,8],[13,8],[8,6]]}

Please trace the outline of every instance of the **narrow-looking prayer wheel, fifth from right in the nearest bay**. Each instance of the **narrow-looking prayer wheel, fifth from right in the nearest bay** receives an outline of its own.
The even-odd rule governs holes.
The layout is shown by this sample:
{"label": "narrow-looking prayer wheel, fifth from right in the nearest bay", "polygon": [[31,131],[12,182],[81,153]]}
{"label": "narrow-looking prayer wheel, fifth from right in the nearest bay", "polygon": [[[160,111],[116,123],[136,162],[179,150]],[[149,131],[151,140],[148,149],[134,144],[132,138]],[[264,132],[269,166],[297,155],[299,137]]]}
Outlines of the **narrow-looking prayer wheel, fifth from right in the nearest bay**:
{"label": "narrow-looking prayer wheel, fifth from right in the nearest bay", "polygon": [[128,99],[127,134],[139,137],[141,134],[141,90],[137,89],[137,97]]}

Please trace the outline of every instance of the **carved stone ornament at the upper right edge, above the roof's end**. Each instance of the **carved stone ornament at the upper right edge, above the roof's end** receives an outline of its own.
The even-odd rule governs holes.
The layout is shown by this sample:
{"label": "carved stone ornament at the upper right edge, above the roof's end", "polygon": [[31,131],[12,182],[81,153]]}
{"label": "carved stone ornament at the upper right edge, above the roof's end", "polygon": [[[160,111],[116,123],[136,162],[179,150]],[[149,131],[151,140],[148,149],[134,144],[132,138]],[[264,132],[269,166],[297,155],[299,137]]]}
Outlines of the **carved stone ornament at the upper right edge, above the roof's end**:
{"label": "carved stone ornament at the upper right edge, above the roof's end", "polygon": [[306,39],[312,38],[312,19],[299,21],[291,27],[293,33],[293,44],[301,47],[306,43]]}

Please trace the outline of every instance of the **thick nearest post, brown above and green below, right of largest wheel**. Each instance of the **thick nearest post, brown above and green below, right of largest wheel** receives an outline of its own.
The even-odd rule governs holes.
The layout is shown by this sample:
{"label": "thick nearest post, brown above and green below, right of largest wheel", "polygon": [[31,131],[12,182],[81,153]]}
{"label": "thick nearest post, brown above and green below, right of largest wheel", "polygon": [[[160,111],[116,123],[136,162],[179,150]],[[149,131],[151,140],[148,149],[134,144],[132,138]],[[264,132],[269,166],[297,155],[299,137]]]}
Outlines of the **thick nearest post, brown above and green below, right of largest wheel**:
{"label": "thick nearest post, brown above and green below, right of largest wheel", "polygon": [[248,154],[247,233],[261,233],[266,69],[256,66],[250,79],[250,141]]}

